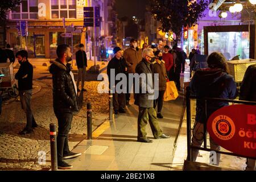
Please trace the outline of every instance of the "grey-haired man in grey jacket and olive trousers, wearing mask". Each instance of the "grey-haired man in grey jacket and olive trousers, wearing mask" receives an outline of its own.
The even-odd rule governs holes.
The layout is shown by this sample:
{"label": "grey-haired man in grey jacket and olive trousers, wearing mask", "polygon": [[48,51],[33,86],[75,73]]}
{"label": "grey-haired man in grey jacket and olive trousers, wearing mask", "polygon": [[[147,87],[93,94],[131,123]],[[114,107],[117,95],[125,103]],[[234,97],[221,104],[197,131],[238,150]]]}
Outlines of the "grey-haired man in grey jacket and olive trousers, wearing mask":
{"label": "grey-haired man in grey jacket and olive trousers, wearing mask", "polygon": [[[146,48],[142,53],[142,61],[137,65],[135,72],[144,79],[139,79],[139,93],[135,94],[135,105],[139,106],[138,115],[138,142],[150,143],[152,140],[147,138],[147,122],[150,123],[155,139],[170,138],[163,134],[160,129],[156,111],[154,109],[154,82],[152,63],[155,56],[152,48]],[[145,90],[146,89],[146,90]],[[146,92],[144,92],[146,91]]]}

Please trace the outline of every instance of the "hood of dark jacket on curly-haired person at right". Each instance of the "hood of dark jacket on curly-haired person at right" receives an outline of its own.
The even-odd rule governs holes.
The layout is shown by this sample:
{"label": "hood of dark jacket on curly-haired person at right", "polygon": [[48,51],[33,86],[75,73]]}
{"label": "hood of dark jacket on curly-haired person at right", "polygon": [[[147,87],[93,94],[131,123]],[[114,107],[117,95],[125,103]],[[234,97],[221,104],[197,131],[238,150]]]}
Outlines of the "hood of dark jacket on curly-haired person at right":
{"label": "hood of dark jacket on curly-haired person at right", "polygon": [[220,78],[226,76],[227,73],[223,69],[210,69],[210,68],[205,68],[205,69],[199,69],[195,73],[195,77],[199,81],[201,85],[209,85],[209,84],[214,84]]}

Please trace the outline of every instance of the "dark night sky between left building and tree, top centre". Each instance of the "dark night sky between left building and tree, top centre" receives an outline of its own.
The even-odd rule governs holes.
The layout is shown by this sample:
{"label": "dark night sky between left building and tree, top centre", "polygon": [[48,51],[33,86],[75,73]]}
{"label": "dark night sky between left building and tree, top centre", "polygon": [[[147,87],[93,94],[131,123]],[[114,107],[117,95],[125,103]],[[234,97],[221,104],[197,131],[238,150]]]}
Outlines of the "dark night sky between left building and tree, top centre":
{"label": "dark night sky between left building and tree, top centre", "polygon": [[133,16],[137,16],[139,19],[143,19],[147,1],[148,0],[115,0],[118,18],[122,18],[123,16],[132,18]]}

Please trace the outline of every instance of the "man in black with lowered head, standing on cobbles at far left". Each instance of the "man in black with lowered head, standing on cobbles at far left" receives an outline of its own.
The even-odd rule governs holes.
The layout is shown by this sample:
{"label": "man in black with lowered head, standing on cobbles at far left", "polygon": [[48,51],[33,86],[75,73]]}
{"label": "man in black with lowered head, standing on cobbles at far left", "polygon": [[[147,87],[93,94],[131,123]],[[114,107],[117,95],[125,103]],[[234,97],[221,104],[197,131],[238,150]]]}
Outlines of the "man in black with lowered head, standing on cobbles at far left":
{"label": "man in black with lowered head, standing on cobbles at far left", "polygon": [[27,57],[28,53],[25,50],[16,53],[16,58],[18,59],[20,67],[15,74],[15,79],[18,80],[20,103],[27,118],[27,125],[20,131],[20,135],[30,134],[32,133],[33,128],[38,126],[31,109],[33,67],[27,60]]}

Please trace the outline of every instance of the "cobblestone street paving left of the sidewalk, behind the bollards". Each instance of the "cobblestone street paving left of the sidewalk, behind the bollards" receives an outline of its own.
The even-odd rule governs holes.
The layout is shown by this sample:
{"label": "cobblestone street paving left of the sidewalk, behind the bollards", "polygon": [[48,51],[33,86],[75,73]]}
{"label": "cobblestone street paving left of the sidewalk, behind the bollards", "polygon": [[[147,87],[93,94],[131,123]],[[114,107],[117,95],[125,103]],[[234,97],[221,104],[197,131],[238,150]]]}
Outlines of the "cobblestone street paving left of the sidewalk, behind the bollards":
{"label": "cobblestone street paving left of the sidewalk, behind the bollards", "polygon": [[[0,170],[48,170],[50,166],[40,166],[38,152],[46,152],[46,162],[50,162],[49,123],[56,123],[52,107],[51,79],[36,81],[42,86],[40,92],[32,95],[32,111],[38,127],[32,134],[19,135],[26,125],[26,116],[20,102],[3,104],[0,115]],[[72,121],[70,139],[76,135],[86,135],[86,103],[92,103],[93,130],[108,118],[108,94],[97,93],[98,82],[86,82],[88,92],[80,95],[82,108]]]}

